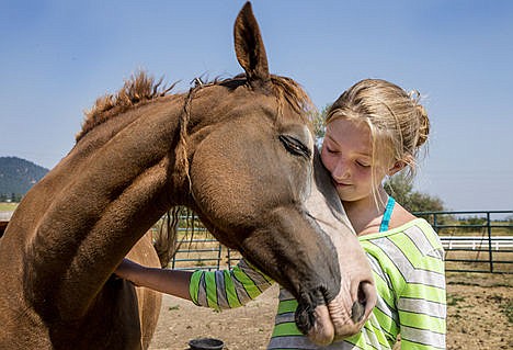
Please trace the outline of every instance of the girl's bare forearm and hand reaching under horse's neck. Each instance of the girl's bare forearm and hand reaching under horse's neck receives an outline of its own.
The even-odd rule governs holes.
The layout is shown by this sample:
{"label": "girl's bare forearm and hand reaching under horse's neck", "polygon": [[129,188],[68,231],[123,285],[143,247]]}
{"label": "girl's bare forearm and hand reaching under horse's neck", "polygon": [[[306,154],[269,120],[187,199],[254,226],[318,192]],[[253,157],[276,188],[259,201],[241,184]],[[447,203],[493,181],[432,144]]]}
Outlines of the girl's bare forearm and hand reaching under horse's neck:
{"label": "girl's bare forearm and hand reaching under horse's neck", "polygon": [[192,272],[148,268],[132,260],[123,259],[114,273],[137,286],[146,286],[161,293],[191,301],[189,286],[191,284]]}

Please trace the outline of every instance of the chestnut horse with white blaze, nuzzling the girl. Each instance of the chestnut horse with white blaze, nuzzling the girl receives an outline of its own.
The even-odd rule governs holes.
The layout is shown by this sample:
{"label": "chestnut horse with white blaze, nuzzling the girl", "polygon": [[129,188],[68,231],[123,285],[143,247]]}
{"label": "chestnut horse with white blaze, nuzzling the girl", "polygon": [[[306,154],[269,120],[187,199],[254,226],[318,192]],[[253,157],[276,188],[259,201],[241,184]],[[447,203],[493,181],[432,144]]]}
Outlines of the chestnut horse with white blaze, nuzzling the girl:
{"label": "chestnut horse with white blaze, nuzzling the girl", "polygon": [[[371,269],[319,161],[309,100],[270,75],[249,3],[235,48],[244,75],[170,94],[139,74],[96,101],[0,240],[1,349],[147,348],[159,296],[112,273],[174,205],[289,290],[314,341],[358,330]],[[159,264],[148,239],[130,257]]]}

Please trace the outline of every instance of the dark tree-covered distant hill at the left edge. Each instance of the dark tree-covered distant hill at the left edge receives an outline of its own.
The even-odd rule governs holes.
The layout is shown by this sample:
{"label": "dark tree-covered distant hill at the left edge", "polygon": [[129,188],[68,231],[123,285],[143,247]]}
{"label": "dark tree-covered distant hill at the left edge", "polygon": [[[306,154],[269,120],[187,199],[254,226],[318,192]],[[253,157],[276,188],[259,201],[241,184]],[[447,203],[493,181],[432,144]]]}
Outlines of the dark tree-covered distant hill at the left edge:
{"label": "dark tree-covered distant hill at the left edge", "polygon": [[19,201],[47,172],[48,169],[25,159],[0,157],[0,201]]}

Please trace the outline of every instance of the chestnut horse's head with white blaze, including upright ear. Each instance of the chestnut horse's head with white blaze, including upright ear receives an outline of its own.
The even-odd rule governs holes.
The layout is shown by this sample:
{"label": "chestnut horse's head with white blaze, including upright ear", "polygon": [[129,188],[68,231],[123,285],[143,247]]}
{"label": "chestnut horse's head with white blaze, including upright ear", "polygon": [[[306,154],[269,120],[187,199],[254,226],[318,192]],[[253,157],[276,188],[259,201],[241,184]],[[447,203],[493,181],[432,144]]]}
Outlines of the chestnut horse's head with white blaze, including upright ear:
{"label": "chestnut horse's head with white blaze, including upright ear", "polygon": [[[192,105],[217,118],[191,134],[193,206],[219,240],[295,295],[299,328],[330,343],[356,332],[374,307],[371,268],[297,101],[307,97],[270,75],[249,3],[235,42],[246,77],[197,91]],[[216,103],[206,108],[207,99]]]}

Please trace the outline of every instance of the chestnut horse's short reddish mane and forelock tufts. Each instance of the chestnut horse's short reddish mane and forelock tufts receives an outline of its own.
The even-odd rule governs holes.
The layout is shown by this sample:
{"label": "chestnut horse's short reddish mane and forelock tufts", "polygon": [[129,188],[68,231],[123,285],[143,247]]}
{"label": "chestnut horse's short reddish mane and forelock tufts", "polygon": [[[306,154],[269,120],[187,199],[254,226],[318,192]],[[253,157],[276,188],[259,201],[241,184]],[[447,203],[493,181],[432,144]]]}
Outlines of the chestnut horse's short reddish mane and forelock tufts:
{"label": "chestnut horse's short reddish mane and forelock tufts", "polygon": [[[206,86],[224,84],[228,86],[235,81],[246,81],[244,75],[239,75],[229,79],[215,79],[212,82],[201,83],[192,88],[189,95],[192,98],[196,89]],[[293,79],[271,75],[271,82],[274,93],[278,102],[278,108],[282,109],[283,103],[287,102],[296,112],[308,120],[307,112],[309,112],[314,104],[305,90]],[[125,80],[123,88],[115,94],[104,94],[96,99],[91,110],[86,111],[86,118],[82,124],[82,129],[77,134],[76,140],[79,142],[87,133],[93,129],[96,125],[102,124],[107,118],[127,111],[135,105],[141,105],[158,98],[169,94],[176,83],[166,87],[162,84],[162,78],[155,81],[155,78],[148,76],[145,71],[138,71]]]}

